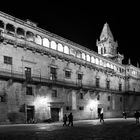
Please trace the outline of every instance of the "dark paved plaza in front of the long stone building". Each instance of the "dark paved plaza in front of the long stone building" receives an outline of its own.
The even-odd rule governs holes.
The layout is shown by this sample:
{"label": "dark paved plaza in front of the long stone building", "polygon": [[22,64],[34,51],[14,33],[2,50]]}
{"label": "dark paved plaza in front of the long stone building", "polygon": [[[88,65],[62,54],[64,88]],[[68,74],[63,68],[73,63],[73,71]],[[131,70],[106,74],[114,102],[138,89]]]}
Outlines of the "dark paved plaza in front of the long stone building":
{"label": "dark paved plaza in front of the long stone building", "polygon": [[75,121],[50,124],[0,125],[0,140],[140,140],[140,124],[134,118]]}

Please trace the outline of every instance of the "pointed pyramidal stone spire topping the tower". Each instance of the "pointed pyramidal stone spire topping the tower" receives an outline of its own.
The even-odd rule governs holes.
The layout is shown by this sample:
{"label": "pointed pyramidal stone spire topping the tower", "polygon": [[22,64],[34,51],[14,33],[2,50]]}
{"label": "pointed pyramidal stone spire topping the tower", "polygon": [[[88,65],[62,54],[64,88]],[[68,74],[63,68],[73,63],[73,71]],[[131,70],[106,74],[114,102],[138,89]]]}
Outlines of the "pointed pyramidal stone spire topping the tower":
{"label": "pointed pyramidal stone spire topping the tower", "polygon": [[101,35],[100,35],[100,40],[104,40],[105,38],[108,38],[108,37],[110,39],[114,40],[114,37],[112,35],[112,32],[111,32],[111,30],[109,28],[108,23],[105,23],[104,26],[103,26]]}

